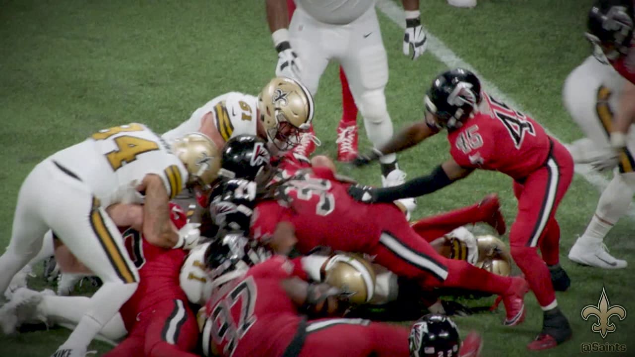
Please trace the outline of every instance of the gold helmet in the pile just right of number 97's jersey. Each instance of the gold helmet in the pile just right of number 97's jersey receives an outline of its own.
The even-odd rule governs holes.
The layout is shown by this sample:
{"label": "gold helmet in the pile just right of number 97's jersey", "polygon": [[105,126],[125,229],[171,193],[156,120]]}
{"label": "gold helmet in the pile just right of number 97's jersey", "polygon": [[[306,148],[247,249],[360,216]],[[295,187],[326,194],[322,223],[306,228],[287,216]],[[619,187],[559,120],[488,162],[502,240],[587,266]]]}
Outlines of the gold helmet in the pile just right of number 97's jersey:
{"label": "gold helmet in the pile just right of number 97's jersey", "polygon": [[340,288],[351,304],[365,304],[375,294],[375,270],[358,255],[339,253],[324,265],[324,282]]}

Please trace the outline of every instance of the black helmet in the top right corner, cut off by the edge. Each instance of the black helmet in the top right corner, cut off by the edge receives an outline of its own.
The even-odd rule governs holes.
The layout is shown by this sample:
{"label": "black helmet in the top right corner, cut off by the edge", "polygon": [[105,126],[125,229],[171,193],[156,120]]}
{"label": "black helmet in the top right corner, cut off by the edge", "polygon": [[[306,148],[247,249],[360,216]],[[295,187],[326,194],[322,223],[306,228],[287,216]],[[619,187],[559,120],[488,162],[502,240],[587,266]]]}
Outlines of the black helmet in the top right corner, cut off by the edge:
{"label": "black helmet in the top right corner, cut off by the edge", "polygon": [[626,55],[633,37],[632,0],[598,0],[589,11],[585,36],[606,58]]}

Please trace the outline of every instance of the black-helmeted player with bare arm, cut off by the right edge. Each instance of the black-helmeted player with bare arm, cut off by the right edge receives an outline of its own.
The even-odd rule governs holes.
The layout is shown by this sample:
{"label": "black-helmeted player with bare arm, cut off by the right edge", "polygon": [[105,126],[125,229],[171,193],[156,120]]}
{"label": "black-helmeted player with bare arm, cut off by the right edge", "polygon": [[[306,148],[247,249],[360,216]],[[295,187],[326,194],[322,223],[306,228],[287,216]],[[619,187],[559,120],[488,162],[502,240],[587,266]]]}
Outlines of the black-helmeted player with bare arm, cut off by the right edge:
{"label": "black-helmeted player with bare arm, cut off by the right edge", "polygon": [[626,80],[622,84],[617,114],[611,126],[610,145],[613,150],[596,160],[598,168],[613,168],[629,159],[629,129],[635,121],[635,50],[633,28],[635,16],[629,0],[597,0],[589,11],[585,36],[599,46],[606,59]]}

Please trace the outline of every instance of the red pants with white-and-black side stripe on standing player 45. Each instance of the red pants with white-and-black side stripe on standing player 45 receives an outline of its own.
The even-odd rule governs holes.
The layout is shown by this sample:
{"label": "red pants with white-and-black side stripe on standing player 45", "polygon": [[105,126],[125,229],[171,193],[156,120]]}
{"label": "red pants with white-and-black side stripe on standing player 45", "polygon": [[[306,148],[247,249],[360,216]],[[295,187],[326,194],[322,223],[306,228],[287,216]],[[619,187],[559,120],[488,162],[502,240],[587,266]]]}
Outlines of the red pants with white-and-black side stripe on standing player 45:
{"label": "red pants with white-and-black side stripe on standing player 45", "polygon": [[[553,140],[547,162],[524,182],[514,181],[518,215],[509,232],[509,245],[516,265],[525,274],[538,304],[556,300],[547,265],[558,264],[560,227],[556,210],[573,179],[573,159],[565,147]],[[538,256],[538,247],[542,259]],[[545,264],[546,263],[546,264]]]}

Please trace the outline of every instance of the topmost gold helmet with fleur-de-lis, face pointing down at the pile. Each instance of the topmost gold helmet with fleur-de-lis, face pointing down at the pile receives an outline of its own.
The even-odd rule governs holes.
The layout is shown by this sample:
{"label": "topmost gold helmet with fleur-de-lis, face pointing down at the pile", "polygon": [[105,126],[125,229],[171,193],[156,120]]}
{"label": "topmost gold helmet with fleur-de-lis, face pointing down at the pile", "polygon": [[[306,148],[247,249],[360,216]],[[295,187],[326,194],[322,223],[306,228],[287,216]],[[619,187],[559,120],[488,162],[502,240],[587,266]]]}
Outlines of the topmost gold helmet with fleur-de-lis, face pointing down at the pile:
{"label": "topmost gold helmet with fleur-de-lis, face pointing down at the pile", "polygon": [[258,111],[267,138],[283,151],[298,144],[300,133],[309,130],[314,107],[311,92],[287,77],[275,77],[258,95]]}

